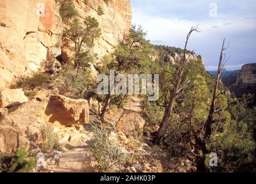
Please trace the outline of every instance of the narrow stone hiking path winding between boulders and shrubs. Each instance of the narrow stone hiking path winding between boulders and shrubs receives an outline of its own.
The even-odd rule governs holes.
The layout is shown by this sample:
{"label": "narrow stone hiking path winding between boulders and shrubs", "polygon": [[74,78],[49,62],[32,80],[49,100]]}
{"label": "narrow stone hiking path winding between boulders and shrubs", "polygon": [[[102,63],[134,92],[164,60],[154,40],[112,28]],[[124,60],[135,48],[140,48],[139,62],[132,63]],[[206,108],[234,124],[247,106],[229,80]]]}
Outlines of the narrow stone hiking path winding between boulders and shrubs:
{"label": "narrow stone hiking path winding between boulders and shrubs", "polygon": [[[140,108],[141,102],[143,99],[132,96],[129,97],[129,101],[124,106],[124,110],[131,110],[138,114],[142,114],[142,109]],[[90,115],[92,116],[92,115]],[[85,128],[81,131],[81,133],[85,133],[86,135],[90,135],[90,125],[85,125]],[[59,158],[55,159],[55,155],[52,155],[48,161],[49,167],[47,170],[49,172],[54,173],[91,173],[94,172],[91,161],[94,161],[93,156],[90,152],[90,140],[91,136],[88,136],[86,141],[79,141],[79,143],[66,144],[62,151],[56,152],[55,155],[58,155]],[[143,137],[143,142],[146,140]],[[147,153],[144,151],[144,154]],[[57,157],[58,157],[57,156]]]}

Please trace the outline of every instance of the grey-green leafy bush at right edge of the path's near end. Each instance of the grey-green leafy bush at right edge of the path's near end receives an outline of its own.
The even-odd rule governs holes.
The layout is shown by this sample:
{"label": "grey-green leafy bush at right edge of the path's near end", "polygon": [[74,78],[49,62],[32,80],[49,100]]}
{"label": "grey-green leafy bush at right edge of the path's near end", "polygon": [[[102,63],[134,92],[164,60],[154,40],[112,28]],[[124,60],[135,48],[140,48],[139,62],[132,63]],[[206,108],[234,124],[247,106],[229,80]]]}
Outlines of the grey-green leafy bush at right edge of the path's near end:
{"label": "grey-green leafy bush at right edge of the path's near end", "polygon": [[125,163],[125,154],[120,150],[120,143],[104,128],[93,127],[91,152],[97,164],[95,171],[108,172],[112,166],[121,166]]}

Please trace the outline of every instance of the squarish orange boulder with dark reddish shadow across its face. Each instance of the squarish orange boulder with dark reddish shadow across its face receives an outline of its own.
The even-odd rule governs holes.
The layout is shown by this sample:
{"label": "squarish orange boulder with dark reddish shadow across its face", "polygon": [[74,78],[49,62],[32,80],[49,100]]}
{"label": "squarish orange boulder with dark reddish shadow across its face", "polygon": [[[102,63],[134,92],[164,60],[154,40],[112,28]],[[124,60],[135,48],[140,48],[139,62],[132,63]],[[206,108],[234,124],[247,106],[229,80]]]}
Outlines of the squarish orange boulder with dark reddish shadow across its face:
{"label": "squarish orange boulder with dark reddish shadow across its face", "polygon": [[63,95],[51,95],[45,108],[48,122],[61,125],[86,124],[89,122],[89,104],[85,99],[71,99]]}

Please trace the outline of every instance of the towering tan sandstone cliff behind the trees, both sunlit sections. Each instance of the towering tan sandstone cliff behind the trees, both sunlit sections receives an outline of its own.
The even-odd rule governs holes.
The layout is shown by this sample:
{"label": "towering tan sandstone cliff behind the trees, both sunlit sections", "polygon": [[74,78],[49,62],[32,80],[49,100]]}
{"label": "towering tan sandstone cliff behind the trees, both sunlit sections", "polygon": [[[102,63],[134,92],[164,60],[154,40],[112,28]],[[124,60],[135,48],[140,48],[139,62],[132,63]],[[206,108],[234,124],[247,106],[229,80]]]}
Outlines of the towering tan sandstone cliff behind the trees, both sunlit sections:
{"label": "towering tan sandstone cliff behind the trees, both sunlit sections", "polygon": [[[131,2],[73,2],[80,18],[95,17],[100,24],[102,34],[93,52],[101,59],[131,27]],[[61,54],[63,22],[54,0],[0,1],[0,23],[0,88],[16,76],[59,67],[55,57]]]}

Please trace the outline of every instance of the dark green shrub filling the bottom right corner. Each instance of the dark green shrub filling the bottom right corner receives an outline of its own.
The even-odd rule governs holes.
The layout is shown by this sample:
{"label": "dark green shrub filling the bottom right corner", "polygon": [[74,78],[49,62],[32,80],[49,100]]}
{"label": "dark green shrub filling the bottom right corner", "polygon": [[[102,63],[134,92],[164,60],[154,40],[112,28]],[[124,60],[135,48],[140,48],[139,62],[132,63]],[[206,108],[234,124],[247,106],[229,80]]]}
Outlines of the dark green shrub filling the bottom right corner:
{"label": "dark green shrub filling the bottom right corner", "polygon": [[209,150],[216,152],[218,166],[209,167],[209,158],[205,165],[209,171],[249,172],[256,171],[254,162],[255,142],[246,123],[230,121],[224,124],[223,132],[213,135]]}

